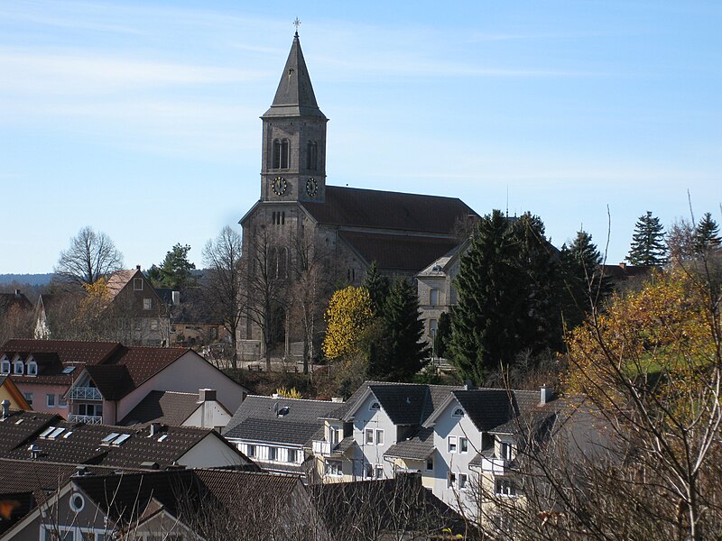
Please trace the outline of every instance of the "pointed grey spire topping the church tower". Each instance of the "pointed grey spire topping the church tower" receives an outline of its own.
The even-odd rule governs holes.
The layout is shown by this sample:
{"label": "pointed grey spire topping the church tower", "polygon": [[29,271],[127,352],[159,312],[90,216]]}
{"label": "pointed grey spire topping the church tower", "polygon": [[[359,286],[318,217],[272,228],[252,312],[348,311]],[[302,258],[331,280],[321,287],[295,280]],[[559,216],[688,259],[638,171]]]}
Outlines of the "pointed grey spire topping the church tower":
{"label": "pointed grey spire topping the church tower", "polygon": [[271,108],[265,112],[264,116],[301,115],[326,118],[316,103],[316,96],[313,94],[313,87],[310,84],[309,70],[306,68],[306,61],[303,60],[299,32],[296,30],[276,96],[273,98]]}

